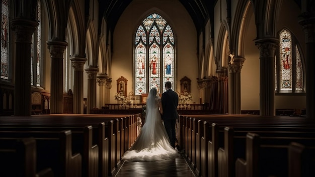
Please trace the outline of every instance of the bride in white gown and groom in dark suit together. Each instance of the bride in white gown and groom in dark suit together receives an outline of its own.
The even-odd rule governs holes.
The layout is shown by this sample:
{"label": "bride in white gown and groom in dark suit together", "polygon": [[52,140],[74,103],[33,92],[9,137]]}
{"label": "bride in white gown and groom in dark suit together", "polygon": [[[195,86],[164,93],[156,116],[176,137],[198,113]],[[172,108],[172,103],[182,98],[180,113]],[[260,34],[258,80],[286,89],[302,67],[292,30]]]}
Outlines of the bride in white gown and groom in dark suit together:
{"label": "bride in white gown and groom in dark suit together", "polygon": [[165,83],[166,92],[160,98],[152,88],[146,99],[144,125],[132,147],[124,153],[123,160],[160,161],[177,157],[175,150],[178,95],[172,83]]}

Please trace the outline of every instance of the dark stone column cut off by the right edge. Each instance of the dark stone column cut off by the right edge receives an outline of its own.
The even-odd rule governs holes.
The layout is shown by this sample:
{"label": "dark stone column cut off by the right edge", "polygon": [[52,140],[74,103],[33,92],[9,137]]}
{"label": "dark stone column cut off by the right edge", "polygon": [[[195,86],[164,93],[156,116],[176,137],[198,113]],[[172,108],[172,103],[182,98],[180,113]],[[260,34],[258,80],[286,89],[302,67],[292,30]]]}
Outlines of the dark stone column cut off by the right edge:
{"label": "dark stone column cut off by the right edge", "polygon": [[302,1],[302,14],[299,24],[305,33],[306,46],[306,117],[315,119],[315,3]]}

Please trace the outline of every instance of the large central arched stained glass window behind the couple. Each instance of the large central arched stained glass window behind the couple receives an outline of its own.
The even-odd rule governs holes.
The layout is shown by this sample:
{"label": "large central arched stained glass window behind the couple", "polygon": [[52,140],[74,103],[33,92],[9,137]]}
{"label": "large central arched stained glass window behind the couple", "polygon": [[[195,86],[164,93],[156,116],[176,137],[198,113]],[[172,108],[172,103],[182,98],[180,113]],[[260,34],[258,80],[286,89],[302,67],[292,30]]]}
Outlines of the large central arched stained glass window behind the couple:
{"label": "large central arched stained glass window behind the couple", "polygon": [[135,35],[135,95],[153,87],[162,93],[167,81],[174,85],[174,51],[174,33],[167,21],[156,13],[145,18]]}

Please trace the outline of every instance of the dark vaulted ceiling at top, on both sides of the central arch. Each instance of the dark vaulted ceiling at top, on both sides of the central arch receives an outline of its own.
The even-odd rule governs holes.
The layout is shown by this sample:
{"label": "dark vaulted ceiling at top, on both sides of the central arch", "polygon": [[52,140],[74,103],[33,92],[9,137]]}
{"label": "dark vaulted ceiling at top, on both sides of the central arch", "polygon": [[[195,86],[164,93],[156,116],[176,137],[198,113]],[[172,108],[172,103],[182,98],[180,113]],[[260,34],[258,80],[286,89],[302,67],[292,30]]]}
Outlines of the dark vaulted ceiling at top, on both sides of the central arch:
{"label": "dark vaulted ceiling at top, on both sides of the central arch", "polygon": [[[113,31],[119,17],[132,0],[99,0],[100,16],[107,20]],[[213,7],[216,0],[179,0],[190,14],[197,33],[200,33],[208,19],[213,22]],[[211,25],[212,26],[212,25]]]}

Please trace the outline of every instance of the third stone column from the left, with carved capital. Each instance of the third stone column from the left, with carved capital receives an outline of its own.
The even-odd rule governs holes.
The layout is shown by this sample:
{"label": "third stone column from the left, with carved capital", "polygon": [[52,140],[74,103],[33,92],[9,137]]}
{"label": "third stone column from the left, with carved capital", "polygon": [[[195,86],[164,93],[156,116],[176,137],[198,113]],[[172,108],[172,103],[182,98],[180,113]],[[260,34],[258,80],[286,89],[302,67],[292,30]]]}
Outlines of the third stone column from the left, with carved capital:
{"label": "third stone column from the left, with carved capital", "polygon": [[83,114],[83,67],[85,57],[70,57],[73,67],[73,113]]}

